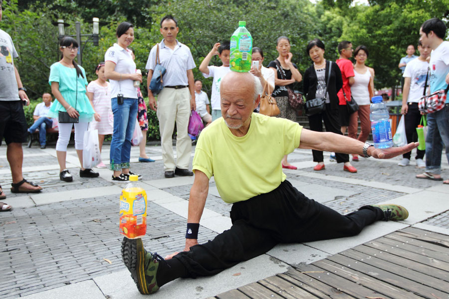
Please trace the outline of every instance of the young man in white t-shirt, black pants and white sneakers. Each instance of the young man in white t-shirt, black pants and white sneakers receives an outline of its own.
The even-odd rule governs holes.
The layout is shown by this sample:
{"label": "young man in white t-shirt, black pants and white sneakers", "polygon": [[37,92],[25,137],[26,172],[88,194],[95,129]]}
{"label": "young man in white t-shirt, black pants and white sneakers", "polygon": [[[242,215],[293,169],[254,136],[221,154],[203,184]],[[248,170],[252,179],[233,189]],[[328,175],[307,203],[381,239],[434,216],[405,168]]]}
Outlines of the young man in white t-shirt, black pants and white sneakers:
{"label": "young man in white t-shirt, black pants and white sneakers", "polygon": [[[420,41],[418,44],[418,51],[420,56],[417,59],[410,61],[404,70],[404,91],[402,93],[402,109],[404,114],[405,129],[407,142],[417,141],[416,128],[421,122],[421,112],[418,109],[418,101],[423,96],[425,89],[427,89],[427,72],[429,70],[429,62],[427,61],[431,47],[429,45],[423,46]],[[426,167],[423,157],[425,150],[416,150],[416,165],[419,168]],[[398,163],[399,166],[407,166],[410,164],[410,156],[412,152],[406,152],[402,155],[403,159]]]}

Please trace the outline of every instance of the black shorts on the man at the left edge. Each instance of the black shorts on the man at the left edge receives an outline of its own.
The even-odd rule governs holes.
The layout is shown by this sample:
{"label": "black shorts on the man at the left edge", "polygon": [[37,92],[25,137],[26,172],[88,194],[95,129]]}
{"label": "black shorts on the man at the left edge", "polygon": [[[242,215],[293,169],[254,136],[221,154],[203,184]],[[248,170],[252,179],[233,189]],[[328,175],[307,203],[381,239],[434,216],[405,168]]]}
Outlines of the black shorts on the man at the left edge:
{"label": "black shorts on the man at the left edge", "polygon": [[26,142],[26,129],[22,101],[0,101],[0,145]]}

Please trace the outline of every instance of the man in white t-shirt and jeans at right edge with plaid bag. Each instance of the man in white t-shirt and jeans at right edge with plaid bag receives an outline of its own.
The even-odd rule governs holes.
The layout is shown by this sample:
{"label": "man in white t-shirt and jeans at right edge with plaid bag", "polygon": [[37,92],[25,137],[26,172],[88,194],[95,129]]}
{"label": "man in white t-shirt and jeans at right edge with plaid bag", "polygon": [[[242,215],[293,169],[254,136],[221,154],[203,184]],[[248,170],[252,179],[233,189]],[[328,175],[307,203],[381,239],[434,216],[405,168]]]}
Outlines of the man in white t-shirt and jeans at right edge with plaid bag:
{"label": "man in white t-shirt and jeans at right edge with plaid bag", "polygon": [[[449,84],[449,41],[444,41],[446,25],[438,19],[432,18],[423,23],[420,28],[420,41],[429,45],[432,55],[429,62],[430,92],[446,90]],[[443,180],[441,177],[441,155],[443,144],[449,161],[449,97],[443,109],[427,115],[426,137],[426,172],[417,174],[417,178]],[[443,183],[449,184],[449,179]]]}

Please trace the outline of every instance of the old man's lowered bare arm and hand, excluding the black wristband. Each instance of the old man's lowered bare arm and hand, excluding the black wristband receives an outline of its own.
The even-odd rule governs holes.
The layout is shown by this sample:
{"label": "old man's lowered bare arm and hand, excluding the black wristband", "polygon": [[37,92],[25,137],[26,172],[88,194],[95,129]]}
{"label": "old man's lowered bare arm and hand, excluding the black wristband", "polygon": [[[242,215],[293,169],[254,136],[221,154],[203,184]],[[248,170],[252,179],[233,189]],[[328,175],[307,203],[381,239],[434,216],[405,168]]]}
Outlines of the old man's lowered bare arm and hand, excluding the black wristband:
{"label": "old man's lowered bare arm and hand, excluding the black wristband", "polygon": [[[209,193],[209,178],[208,176],[200,171],[195,170],[195,180],[190,189],[189,197],[189,212],[187,216],[187,223],[189,224],[200,224],[201,215],[203,215],[204,206],[206,204],[206,198]],[[186,238],[186,247],[184,251],[189,251],[190,247],[197,245],[198,239],[188,239]],[[165,259],[171,259],[178,252],[167,256]]]}

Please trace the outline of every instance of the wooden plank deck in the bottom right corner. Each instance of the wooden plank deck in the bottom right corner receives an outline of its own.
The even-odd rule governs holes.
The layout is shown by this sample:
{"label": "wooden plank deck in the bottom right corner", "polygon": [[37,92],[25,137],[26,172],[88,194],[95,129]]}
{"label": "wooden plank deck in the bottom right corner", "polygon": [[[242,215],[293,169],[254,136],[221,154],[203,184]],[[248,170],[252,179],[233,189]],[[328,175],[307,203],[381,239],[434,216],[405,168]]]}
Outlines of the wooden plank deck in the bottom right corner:
{"label": "wooden plank deck in the bottom right corner", "polygon": [[449,236],[406,228],[209,299],[448,299]]}

